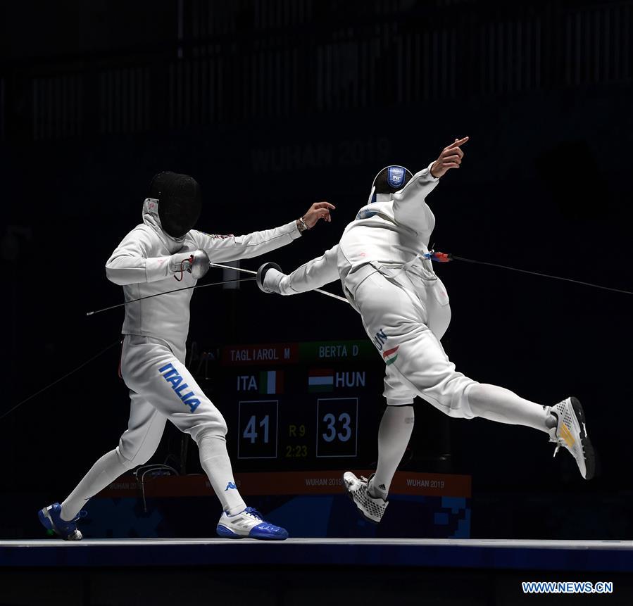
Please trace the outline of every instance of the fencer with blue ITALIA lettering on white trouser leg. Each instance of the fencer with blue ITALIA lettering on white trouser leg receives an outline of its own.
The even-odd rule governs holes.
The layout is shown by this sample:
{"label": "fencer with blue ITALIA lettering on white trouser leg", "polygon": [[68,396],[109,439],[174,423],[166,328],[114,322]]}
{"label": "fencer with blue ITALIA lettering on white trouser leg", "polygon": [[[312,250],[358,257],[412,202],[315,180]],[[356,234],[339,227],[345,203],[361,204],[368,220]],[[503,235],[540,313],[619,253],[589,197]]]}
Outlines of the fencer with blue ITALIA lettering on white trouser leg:
{"label": "fencer with blue ITALIA lettering on white trouser leg", "polygon": [[127,430],[118,447],[94,464],[61,505],[39,512],[46,528],[65,539],[80,539],[76,526],[82,506],[118,476],[149,460],[169,420],[199,447],[201,465],[223,506],[220,536],[287,537],[287,531],[246,507],[227,454],[225,419],[184,365],[194,289],[161,293],[194,286],[208,270],[209,259],[251,258],[290,244],[320,218],[330,220],[330,208],[329,203],[316,203],[299,220],[245,236],[211,235],[192,229],[201,210],[196,181],[173,172],[154,177],[142,224],[125,236],[106,263],[106,275],[123,286],[125,301],[150,297],[125,306],[120,371],[130,388]]}

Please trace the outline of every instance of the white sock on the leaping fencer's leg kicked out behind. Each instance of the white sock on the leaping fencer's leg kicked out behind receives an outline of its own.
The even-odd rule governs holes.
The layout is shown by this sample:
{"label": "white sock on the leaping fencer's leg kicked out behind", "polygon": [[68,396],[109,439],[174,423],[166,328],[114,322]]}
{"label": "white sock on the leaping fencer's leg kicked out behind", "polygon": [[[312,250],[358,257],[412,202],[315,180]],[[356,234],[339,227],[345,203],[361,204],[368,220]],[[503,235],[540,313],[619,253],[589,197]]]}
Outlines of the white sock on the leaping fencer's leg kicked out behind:
{"label": "white sock on the leaping fencer's leg kicked out behind", "polygon": [[511,425],[534,427],[549,434],[556,427],[549,406],[524,400],[509,389],[496,385],[478,383],[468,388],[468,402],[472,413],[477,417]]}

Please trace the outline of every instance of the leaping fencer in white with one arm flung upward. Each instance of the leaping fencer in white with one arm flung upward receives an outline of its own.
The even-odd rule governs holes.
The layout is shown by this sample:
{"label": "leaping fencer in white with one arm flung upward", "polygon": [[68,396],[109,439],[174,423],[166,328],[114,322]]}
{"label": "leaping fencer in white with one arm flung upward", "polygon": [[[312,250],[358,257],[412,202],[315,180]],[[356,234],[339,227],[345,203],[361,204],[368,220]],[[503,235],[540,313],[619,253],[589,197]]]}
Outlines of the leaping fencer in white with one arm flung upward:
{"label": "leaping fencer in white with one arm flung upward", "polygon": [[344,230],[339,244],[286,275],[262,265],[265,292],[292,295],[340,279],[349,303],[385,363],[387,410],[378,434],[378,463],[369,480],[351,472],[344,484],[361,513],[380,522],[387,494],[413,430],[413,398],[420,396],[451,417],[483,417],[534,427],[575,457],[582,476],[594,474],[594,451],[577,398],[554,406],[520,398],[499,386],[480,384],[458,372],[440,339],[451,310],[446,288],[429,260],[435,217],[426,202],[439,177],[463,158],[456,140],[415,175],[389,166],[374,179],[368,204]]}

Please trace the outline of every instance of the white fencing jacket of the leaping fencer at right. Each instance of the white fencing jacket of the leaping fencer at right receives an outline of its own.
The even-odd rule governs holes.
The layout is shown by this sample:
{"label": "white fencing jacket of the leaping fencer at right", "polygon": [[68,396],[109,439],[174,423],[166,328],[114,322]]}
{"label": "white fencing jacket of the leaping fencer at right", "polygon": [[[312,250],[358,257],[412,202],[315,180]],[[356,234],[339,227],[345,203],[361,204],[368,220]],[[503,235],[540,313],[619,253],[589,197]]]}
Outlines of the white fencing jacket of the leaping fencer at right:
{"label": "white fencing jacket of the leaping fencer at right", "polygon": [[[426,196],[435,189],[439,179],[431,175],[430,165],[396,194],[377,196],[378,201],[363,206],[343,232],[339,244],[301,267],[292,274],[271,274],[273,290],[291,295],[319,288],[341,279],[352,305],[358,285],[375,271],[389,274],[407,265],[407,270],[425,280],[436,280],[427,253],[429,239],[435,227],[435,217],[426,203]],[[268,279],[268,274],[266,275]],[[279,282],[273,284],[272,282]],[[354,305],[356,307],[356,305]]]}

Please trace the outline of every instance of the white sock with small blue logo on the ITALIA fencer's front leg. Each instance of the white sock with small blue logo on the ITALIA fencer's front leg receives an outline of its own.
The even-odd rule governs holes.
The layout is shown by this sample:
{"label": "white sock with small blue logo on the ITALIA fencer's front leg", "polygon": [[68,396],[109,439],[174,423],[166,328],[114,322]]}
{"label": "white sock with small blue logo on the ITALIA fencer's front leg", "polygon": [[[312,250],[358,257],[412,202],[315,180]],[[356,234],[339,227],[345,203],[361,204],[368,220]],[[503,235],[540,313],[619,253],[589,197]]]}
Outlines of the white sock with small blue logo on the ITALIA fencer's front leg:
{"label": "white sock with small blue logo on the ITALIA fencer's front leg", "polygon": [[222,508],[228,515],[241,513],[246,509],[231,469],[224,436],[203,436],[199,443],[200,462],[207,474],[213,491],[218,495]]}

